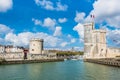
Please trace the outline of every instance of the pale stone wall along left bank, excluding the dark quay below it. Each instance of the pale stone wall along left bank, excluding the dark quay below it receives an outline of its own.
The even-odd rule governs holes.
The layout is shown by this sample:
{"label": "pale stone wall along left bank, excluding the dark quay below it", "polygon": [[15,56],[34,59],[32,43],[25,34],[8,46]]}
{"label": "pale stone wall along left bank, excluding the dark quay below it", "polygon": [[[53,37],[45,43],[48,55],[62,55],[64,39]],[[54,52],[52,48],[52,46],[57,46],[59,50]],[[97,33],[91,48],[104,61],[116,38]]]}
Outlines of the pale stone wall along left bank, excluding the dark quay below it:
{"label": "pale stone wall along left bank, excluding the dark quay below it", "polygon": [[[6,61],[24,60],[24,53],[0,53],[0,59]],[[27,54],[27,60],[56,59],[56,54]]]}

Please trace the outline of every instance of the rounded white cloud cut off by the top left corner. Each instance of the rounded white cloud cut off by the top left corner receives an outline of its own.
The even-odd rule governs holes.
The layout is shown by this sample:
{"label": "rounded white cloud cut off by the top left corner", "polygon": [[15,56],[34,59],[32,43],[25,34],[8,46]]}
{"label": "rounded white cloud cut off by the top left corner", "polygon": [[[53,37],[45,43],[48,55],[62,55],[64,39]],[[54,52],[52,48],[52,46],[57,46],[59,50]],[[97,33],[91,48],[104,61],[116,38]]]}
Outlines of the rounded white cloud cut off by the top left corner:
{"label": "rounded white cloud cut off by the top left corner", "polygon": [[6,12],[13,6],[12,0],[0,0],[0,12]]}

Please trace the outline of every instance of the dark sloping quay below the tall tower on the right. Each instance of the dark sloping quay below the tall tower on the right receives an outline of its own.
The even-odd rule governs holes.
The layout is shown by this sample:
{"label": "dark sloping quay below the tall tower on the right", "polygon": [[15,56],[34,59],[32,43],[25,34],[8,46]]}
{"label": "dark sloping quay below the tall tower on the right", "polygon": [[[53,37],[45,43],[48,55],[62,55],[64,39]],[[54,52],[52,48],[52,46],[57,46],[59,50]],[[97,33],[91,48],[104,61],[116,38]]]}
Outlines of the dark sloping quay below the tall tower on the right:
{"label": "dark sloping quay below the tall tower on the right", "polygon": [[102,64],[107,66],[120,67],[120,60],[115,58],[104,58],[104,59],[84,59],[84,62]]}

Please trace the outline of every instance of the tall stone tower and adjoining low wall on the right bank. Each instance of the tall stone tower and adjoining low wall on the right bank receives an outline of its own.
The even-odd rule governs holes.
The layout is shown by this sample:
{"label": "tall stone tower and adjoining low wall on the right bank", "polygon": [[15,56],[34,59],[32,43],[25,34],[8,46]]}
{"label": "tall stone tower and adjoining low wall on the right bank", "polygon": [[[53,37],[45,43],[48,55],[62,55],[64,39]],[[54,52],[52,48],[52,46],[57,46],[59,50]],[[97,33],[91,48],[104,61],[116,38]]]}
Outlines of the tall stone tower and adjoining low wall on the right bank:
{"label": "tall stone tower and adjoining low wall on the right bank", "polygon": [[94,23],[84,24],[85,58],[113,58],[118,55],[120,55],[119,48],[107,47],[105,30],[96,30]]}

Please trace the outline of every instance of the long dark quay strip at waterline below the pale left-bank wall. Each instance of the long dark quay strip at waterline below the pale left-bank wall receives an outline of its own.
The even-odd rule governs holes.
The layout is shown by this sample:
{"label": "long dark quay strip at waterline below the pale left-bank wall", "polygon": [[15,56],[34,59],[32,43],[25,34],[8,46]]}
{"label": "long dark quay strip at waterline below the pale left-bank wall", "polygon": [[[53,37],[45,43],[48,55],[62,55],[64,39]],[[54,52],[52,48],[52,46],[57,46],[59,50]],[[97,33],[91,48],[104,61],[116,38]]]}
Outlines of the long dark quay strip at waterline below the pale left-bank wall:
{"label": "long dark quay strip at waterline below the pale left-bank wall", "polygon": [[60,61],[64,61],[64,59],[10,60],[10,61],[0,61],[0,65],[45,63],[45,62],[60,62]]}

